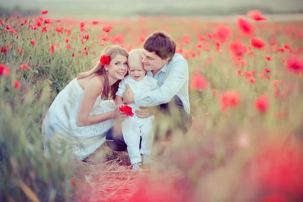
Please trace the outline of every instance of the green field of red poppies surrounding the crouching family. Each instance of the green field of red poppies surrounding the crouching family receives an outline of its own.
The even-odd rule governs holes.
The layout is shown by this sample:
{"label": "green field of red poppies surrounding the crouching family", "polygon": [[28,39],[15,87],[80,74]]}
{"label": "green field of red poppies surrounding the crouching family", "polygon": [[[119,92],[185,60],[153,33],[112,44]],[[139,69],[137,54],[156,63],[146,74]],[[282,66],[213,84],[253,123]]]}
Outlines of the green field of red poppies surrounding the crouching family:
{"label": "green field of red poppies surrounding the crouching family", "polygon": [[[186,136],[176,132],[140,174],[127,171],[124,154],[109,161],[108,149],[93,164],[71,161],[68,151],[44,158],[41,124],[56,95],[107,45],[142,48],[157,30],[188,63]],[[302,21],[274,22],[258,11],[220,22],[79,21],[45,10],[2,18],[0,48],[0,201],[303,200]]]}

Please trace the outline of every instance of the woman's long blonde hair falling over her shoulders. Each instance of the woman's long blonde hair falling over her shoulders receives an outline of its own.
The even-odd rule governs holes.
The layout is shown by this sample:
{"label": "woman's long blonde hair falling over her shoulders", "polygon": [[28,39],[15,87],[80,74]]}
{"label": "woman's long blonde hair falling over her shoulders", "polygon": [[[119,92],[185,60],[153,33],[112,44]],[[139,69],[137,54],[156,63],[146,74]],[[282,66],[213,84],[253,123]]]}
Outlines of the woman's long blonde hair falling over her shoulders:
{"label": "woman's long blonde hair falling over her shoulders", "polygon": [[[123,48],[119,45],[109,45],[103,50],[100,57],[109,56],[110,61],[111,61],[117,55],[122,55],[127,58],[128,52],[126,51],[125,48]],[[104,92],[105,96],[107,96],[109,99],[115,99],[116,92],[118,91],[119,83],[121,80],[118,80],[116,83],[114,83],[112,86],[110,86],[108,71],[106,71],[104,66],[100,64],[100,57],[98,57],[92,61],[95,63],[94,68],[92,68],[88,72],[81,72],[77,76],[77,79],[83,79],[83,78],[87,78],[87,77],[92,78],[94,76],[102,76],[104,78],[103,92]]]}

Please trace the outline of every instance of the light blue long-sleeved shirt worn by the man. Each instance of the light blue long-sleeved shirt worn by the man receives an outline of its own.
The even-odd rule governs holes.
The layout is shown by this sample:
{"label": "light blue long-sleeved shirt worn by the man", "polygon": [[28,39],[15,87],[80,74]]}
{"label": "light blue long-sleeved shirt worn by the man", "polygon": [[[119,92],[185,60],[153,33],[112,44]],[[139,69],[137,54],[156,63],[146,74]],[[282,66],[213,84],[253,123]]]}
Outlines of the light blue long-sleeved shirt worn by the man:
{"label": "light blue long-sleeved shirt worn by the man", "polygon": [[181,55],[175,54],[173,59],[166,63],[155,76],[151,71],[148,71],[147,75],[157,79],[160,88],[134,93],[134,102],[137,106],[158,106],[170,102],[177,95],[183,103],[185,112],[189,114],[188,65]]}

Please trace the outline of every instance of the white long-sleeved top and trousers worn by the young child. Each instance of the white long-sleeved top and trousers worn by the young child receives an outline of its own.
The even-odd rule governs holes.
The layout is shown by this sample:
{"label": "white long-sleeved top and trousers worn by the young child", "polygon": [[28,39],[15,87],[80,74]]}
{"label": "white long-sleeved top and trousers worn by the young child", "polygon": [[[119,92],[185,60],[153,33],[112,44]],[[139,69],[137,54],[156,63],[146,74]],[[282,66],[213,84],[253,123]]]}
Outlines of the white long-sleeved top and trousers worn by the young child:
{"label": "white long-sleeved top and trousers worn by the young child", "polygon": [[[122,97],[123,92],[126,90],[126,83],[134,93],[141,93],[148,90],[152,91],[159,87],[158,80],[151,76],[146,75],[142,80],[136,81],[128,75],[120,82],[116,95]],[[134,103],[131,103],[128,106],[132,108],[132,112],[134,114],[135,110],[140,110]],[[131,164],[141,162],[140,154],[150,154],[154,140],[154,119],[154,115],[143,119],[134,115],[133,117],[128,117],[122,122],[123,138],[127,144],[127,151]],[[140,136],[142,137],[141,149],[139,148]]]}

